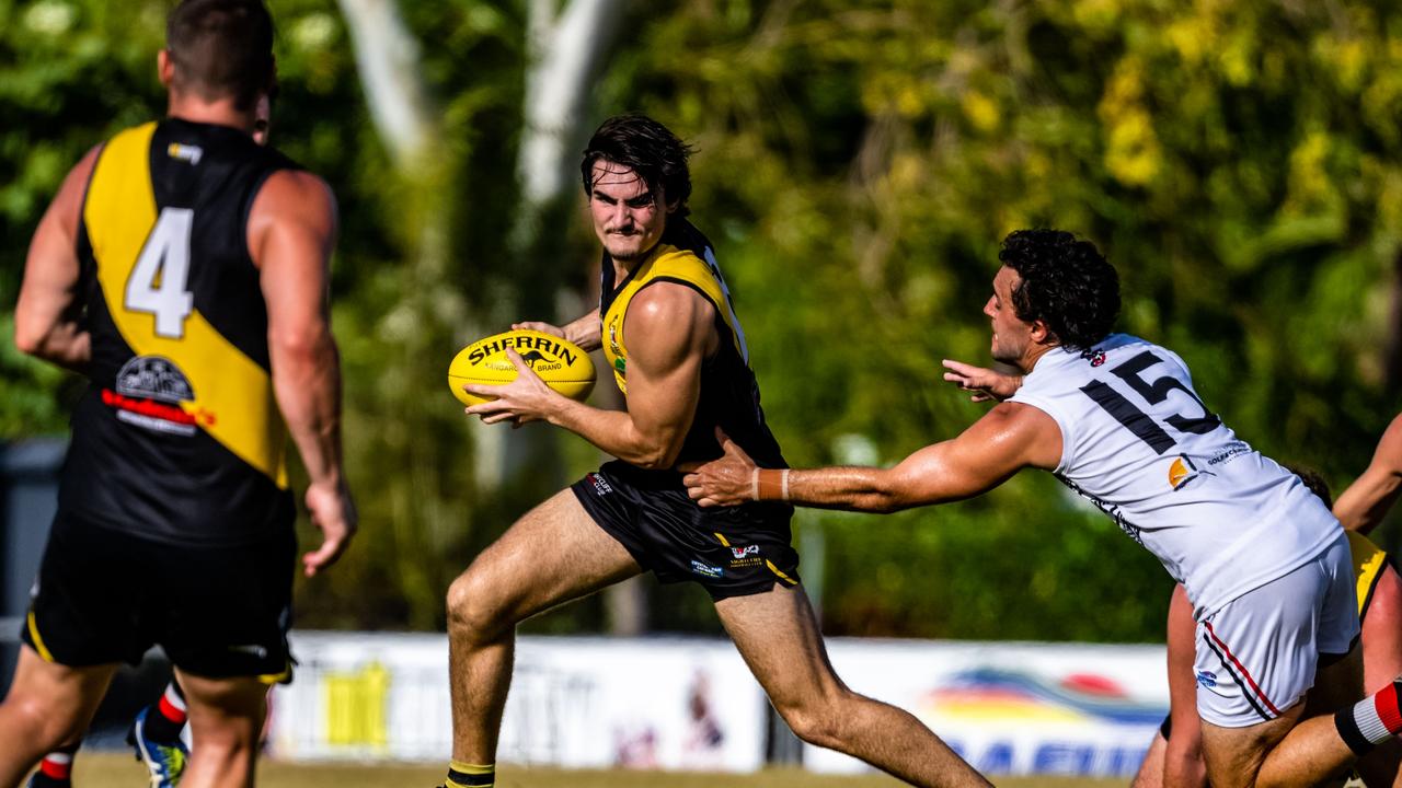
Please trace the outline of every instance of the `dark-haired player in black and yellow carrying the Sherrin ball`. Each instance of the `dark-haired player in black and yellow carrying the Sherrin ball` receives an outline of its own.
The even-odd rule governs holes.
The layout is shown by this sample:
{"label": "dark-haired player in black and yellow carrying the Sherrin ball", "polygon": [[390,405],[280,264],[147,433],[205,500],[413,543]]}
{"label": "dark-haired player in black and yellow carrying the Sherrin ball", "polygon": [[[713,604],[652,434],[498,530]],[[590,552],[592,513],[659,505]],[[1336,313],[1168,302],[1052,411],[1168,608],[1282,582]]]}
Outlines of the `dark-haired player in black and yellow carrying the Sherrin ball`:
{"label": "dark-haired player in black and yellow carrying the Sherrin ball", "polygon": [[711,244],[687,222],[688,149],[649,118],[613,118],[580,175],[603,245],[603,297],[564,328],[603,346],[627,398],[601,411],[550,390],[520,356],[484,422],[548,421],[617,457],[517,520],[447,595],[453,761],[447,788],[495,782],[496,738],[516,624],[644,571],[700,583],[736,648],[799,738],[859,757],[914,785],[987,785],[914,716],[848,690],[829,665],[780,502],[704,510],[679,460],[718,457],[716,428],[781,467],[764,423],[744,334]]}

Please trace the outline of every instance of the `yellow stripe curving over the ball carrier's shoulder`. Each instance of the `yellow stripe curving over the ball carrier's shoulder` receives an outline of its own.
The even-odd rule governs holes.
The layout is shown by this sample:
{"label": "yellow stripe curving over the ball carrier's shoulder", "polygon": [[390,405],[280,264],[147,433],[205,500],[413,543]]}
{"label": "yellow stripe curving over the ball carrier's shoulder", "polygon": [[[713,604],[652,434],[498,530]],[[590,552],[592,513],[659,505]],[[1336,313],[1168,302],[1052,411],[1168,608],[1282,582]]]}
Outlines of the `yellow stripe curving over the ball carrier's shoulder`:
{"label": "yellow stripe curving over the ball carrier's shoulder", "polygon": [[716,275],[711,272],[707,262],[688,250],[677,248],[672,244],[658,244],[658,248],[639,264],[632,278],[622,286],[603,318],[604,358],[614,370],[614,380],[618,390],[628,394],[628,345],[624,341],[624,318],[628,315],[628,304],[645,286],[659,279],[684,282],[700,290],[711,306],[721,313],[725,324],[730,328],[730,341],[740,358],[746,358],[744,344],[740,341],[740,321],[730,311],[730,299],[726,297]]}

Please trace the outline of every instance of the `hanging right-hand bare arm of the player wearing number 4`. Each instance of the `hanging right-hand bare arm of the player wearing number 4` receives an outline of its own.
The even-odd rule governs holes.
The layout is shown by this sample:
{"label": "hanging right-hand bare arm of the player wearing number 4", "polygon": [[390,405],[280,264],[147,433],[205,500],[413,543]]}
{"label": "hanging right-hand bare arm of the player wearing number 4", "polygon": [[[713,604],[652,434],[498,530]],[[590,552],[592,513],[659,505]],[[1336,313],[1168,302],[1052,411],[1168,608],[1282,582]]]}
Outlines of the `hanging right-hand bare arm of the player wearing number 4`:
{"label": "hanging right-hand bare arm of the player wearing number 4", "polygon": [[278,407],[311,478],[307,509],[322,534],[307,576],[341,557],[356,530],[341,458],[341,358],[331,337],[331,189],[310,172],[275,172],[248,213],[248,248],[268,301],[268,355]]}

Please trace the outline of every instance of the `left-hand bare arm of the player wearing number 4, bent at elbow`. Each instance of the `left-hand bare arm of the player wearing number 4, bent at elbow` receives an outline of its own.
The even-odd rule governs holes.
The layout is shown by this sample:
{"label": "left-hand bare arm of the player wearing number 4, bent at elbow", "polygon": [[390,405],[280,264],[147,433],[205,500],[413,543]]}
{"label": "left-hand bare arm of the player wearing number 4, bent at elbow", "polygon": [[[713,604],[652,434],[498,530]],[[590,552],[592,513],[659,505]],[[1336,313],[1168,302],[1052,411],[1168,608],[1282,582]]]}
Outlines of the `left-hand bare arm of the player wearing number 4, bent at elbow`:
{"label": "left-hand bare arm of the player wearing number 4, bent at elbow", "polygon": [[83,193],[101,149],[94,147],[63,179],[39,220],[24,265],[20,301],[14,307],[14,344],[20,352],[73,370],[91,356],[79,301],[79,219]]}

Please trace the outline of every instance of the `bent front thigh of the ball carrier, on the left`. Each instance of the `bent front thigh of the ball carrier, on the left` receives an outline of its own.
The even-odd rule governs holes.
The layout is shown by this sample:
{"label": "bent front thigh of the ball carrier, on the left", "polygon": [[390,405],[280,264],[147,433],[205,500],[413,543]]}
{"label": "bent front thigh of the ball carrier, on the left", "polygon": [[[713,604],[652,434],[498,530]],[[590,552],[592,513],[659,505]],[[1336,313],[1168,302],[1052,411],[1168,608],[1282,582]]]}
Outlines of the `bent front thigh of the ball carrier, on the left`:
{"label": "bent front thigh of the ball carrier, on the left", "polygon": [[472,561],[449,592],[449,614],[467,607],[519,621],[641,572],[575,494],[562,489]]}

